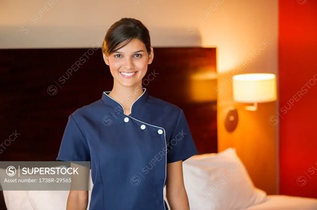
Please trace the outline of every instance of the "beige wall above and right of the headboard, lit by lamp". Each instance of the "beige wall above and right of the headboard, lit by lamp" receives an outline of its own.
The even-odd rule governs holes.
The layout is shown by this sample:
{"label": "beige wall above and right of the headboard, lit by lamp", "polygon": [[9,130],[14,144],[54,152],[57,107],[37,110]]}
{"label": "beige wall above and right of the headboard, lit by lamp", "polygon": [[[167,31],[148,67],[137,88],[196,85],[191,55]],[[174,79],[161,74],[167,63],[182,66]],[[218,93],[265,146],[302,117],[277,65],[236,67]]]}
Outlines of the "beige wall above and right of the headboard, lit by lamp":
{"label": "beige wall above and right of the headboard, lit by lamp", "polygon": [[236,131],[223,127],[233,104],[228,76],[277,74],[277,0],[14,2],[0,1],[0,48],[91,47],[121,17],[141,20],[153,46],[217,47],[219,151],[236,147],[255,185],[269,194],[277,191],[278,131],[269,124],[276,103],[260,104],[256,112],[238,105]]}

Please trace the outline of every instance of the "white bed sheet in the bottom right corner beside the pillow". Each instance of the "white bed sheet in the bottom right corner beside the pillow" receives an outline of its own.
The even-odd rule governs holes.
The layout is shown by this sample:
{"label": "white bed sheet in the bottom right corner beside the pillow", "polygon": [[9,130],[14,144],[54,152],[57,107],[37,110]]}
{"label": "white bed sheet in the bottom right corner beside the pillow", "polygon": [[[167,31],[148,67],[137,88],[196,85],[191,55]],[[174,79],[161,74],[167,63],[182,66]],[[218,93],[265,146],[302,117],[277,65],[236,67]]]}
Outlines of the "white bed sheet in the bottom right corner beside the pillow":
{"label": "white bed sheet in the bottom right corner beside the pillow", "polygon": [[246,210],[317,210],[317,199],[287,195],[268,195],[267,201]]}

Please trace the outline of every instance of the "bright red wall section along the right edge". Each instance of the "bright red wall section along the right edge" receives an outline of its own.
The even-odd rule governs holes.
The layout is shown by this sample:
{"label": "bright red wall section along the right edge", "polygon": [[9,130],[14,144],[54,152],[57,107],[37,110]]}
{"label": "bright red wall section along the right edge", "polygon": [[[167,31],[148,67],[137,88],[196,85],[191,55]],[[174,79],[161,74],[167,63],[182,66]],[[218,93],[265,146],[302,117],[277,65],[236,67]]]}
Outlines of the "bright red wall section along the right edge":
{"label": "bright red wall section along the right edge", "polygon": [[317,198],[317,0],[279,1],[280,194]]}

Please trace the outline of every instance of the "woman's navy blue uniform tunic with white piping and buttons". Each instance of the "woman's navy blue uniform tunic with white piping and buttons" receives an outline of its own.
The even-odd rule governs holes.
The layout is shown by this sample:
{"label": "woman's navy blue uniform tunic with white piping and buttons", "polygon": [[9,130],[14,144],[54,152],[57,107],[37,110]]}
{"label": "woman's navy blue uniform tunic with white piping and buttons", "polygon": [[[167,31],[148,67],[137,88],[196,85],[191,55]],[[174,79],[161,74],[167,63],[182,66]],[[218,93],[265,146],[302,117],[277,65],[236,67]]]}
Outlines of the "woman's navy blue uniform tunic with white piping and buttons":
{"label": "woman's navy blue uniform tunic with white piping and buttons", "polygon": [[69,116],[56,160],[91,161],[90,210],[168,210],[166,164],[197,154],[184,112],[143,88],[126,115],[108,93]]}

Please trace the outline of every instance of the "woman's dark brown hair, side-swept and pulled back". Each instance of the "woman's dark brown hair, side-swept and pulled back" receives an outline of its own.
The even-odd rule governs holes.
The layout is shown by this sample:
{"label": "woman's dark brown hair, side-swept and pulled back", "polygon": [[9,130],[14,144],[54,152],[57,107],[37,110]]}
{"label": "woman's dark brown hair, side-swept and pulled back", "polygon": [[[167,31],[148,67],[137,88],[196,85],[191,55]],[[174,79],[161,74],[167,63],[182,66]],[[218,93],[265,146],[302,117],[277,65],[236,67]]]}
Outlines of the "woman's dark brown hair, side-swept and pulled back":
{"label": "woman's dark brown hair, side-swept and pulled back", "polygon": [[[102,43],[102,52],[110,55],[116,50],[127,45],[132,39],[139,39],[146,46],[146,51],[151,53],[151,39],[148,29],[143,23],[134,18],[121,18],[107,30]],[[119,45],[123,44],[118,48]]]}

